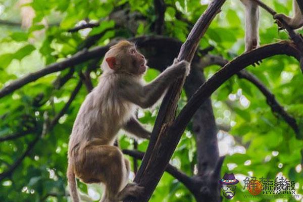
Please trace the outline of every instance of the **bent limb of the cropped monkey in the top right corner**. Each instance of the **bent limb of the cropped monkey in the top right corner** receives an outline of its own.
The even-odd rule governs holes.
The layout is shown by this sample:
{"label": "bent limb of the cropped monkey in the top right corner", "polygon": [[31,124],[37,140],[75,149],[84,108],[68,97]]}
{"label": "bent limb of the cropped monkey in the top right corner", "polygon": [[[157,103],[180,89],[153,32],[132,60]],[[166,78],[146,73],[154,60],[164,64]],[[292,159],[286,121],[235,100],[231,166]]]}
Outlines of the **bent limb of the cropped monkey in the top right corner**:
{"label": "bent limb of the cropped monkey in the top right corner", "polygon": [[290,26],[290,28],[298,29],[303,26],[303,15],[301,13],[301,10],[300,10],[299,5],[296,2],[296,0],[294,0],[292,2],[292,6],[293,6],[292,10],[294,13],[293,18],[290,18],[290,17],[280,13],[280,14],[276,14],[274,16],[274,19],[278,19],[278,20],[282,19]]}

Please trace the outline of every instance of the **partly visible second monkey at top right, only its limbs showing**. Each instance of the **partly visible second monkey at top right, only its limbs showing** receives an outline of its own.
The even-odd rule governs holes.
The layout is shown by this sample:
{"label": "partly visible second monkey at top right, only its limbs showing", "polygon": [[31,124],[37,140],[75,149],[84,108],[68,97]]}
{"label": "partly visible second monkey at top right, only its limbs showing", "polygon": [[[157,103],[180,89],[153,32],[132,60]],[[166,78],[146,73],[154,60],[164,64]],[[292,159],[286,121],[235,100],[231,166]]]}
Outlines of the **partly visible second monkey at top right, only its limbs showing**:
{"label": "partly visible second monkey at top right, only its limbs showing", "polygon": [[[260,44],[259,39],[259,6],[252,0],[240,0],[245,7],[245,52],[255,49]],[[274,15],[274,19],[284,20],[292,29],[298,29],[303,26],[303,15],[296,2],[293,0],[294,17],[290,18],[284,14]]]}

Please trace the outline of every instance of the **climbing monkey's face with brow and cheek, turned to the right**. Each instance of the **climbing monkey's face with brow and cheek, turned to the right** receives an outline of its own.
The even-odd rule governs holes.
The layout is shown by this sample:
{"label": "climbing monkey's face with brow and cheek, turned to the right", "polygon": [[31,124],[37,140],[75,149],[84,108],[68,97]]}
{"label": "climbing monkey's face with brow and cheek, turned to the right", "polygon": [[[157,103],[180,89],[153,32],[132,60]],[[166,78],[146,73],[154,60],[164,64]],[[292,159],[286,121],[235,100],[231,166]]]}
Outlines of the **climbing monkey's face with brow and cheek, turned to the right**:
{"label": "climbing monkey's face with brow and cheek, turned to the right", "polygon": [[129,73],[141,75],[146,71],[146,60],[134,46],[126,49],[124,61],[121,62],[126,63],[125,67],[128,68]]}

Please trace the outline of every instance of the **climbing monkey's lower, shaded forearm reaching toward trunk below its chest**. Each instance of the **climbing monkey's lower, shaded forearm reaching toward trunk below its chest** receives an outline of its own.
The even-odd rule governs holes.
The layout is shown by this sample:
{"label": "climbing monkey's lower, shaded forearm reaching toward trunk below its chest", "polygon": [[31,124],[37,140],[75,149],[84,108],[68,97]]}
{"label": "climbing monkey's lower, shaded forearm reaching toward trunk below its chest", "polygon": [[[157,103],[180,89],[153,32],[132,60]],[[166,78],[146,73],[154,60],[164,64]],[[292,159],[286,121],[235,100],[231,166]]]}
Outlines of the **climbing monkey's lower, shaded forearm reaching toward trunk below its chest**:
{"label": "climbing monkey's lower, shaded forearm reaching toward trunk below its chest", "polygon": [[151,135],[134,117],[128,120],[123,129],[139,138],[149,139]]}

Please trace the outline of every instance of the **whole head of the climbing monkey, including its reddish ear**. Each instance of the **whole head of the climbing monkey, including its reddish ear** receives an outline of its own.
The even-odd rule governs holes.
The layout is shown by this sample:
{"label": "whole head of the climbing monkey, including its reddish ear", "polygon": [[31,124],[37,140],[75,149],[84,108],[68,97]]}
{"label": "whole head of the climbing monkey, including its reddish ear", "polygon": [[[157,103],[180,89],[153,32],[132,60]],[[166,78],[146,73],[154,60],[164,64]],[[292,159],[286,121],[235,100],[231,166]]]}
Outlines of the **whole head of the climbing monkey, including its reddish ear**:
{"label": "whole head of the climbing monkey, including its reddish ear", "polygon": [[142,75],[146,71],[146,60],[133,43],[123,40],[110,47],[102,68],[103,71]]}

